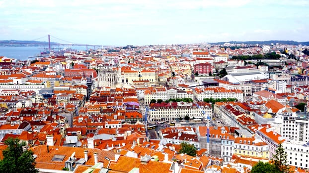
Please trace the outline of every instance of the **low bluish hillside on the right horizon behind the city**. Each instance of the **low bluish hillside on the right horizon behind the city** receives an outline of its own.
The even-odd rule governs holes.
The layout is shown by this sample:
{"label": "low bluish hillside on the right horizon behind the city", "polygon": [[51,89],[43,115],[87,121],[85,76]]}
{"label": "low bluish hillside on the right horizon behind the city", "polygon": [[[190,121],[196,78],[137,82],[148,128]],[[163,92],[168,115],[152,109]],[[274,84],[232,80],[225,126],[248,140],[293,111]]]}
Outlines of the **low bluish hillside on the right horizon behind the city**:
{"label": "low bluish hillside on the right horizon behind the city", "polygon": [[280,40],[270,40],[270,41],[248,41],[248,42],[238,42],[238,41],[231,41],[231,42],[217,42],[211,44],[224,44],[224,43],[233,43],[233,44],[271,44],[271,43],[279,43],[279,44],[289,44],[289,45],[309,45],[309,42],[295,42],[295,41],[280,41]]}

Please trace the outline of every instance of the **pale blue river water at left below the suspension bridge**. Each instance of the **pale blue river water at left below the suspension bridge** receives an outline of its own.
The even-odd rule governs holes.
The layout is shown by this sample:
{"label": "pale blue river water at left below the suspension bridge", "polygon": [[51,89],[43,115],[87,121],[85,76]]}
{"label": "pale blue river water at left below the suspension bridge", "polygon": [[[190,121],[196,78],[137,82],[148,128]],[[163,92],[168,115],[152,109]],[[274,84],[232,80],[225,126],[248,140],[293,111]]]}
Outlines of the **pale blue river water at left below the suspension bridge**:
{"label": "pale blue river water at left below the suspension bridge", "polygon": [[[19,60],[27,60],[29,56],[40,56],[41,52],[45,51],[47,47],[0,47],[0,56],[14,58]],[[85,50],[85,46],[72,46],[72,47],[55,47],[54,50],[72,48],[76,50]]]}

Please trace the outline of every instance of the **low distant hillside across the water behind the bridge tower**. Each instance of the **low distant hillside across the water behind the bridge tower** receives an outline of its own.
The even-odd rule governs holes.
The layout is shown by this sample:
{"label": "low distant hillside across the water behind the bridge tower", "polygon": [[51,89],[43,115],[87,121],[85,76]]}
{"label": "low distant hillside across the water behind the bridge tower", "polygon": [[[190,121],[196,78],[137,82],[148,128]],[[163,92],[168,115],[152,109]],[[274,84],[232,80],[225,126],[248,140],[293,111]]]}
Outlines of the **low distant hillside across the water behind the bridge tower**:
{"label": "low distant hillside across the water behind the bridge tower", "polygon": [[[17,46],[39,46],[39,45],[47,45],[48,42],[38,42],[38,41],[20,41],[20,40],[1,40],[0,46],[9,46],[9,47],[17,47]],[[51,42],[51,44],[59,44],[56,42]]]}

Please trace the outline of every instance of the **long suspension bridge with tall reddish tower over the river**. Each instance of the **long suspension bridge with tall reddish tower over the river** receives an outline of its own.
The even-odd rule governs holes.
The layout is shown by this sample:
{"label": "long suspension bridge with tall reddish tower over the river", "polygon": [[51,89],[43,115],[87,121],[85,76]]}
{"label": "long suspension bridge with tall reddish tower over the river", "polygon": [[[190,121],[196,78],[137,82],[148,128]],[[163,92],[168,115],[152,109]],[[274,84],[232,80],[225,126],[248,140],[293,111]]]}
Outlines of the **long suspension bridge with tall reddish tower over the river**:
{"label": "long suspension bridge with tall reddish tower over the river", "polygon": [[[43,39],[43,38],[48,38],[48,42],[41,42],[39,40]],[[56,42],[51,42],[51,38],[53,39],[57,39],[57,40],[60,40],[64,43],[56,43]],[[66,40],[63,40],[63,39],[59,39],[55,36],[51,36],[51,35],[46,35],[46,36],[43,36],[43,37],[40,37],[40,38],[37,38],[37,39],[34,39],[34,40],[31,40],[31,41],[37,41],[36,43],[31,43],[31,42],[9,42],[7,44],[39,44],[39,45],[48,45],[48,49],[51,50],[51,46],[86,46],[86,50],[88,50],[88,46],[90,47],[100,47],[100,48],[114,48],[114,47],[119,47],[119,46],[115,46],[115,45],[97,45],[97,44],[82,44],[82,43],[72,43],[72,42],[69,42],[69,41],[66,41]]]}

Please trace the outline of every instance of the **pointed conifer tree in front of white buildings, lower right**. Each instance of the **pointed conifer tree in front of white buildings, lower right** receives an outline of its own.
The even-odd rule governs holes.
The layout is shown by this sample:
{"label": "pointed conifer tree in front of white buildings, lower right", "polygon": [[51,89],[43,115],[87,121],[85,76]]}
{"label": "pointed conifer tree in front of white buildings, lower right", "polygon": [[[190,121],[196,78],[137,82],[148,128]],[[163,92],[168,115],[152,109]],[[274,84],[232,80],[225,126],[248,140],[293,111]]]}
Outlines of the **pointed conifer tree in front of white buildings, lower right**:
{"label": "pointed conifer tree in front of white buildings, lower right", "polygon": [[274,162],[276,168],[279,170],[279,173],[289,172],[289,167],[287,164],[287,154],[285,153],[281,142],[276,149],[276,154],[273,155],[272,161]]}

